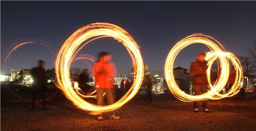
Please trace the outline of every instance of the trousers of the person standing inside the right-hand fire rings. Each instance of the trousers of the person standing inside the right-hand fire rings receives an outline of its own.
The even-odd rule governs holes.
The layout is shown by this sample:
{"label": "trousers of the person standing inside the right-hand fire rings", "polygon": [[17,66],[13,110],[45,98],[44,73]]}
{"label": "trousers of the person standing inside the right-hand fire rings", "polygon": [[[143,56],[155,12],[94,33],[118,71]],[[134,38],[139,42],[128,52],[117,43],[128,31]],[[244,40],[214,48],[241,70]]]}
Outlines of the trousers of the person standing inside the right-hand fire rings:
{"label": "trousers of the person standing inside the right-hand fire rings", "polygon": [[[194,95],[200,95],[208,92],[208,86],[207,85],[196,85],[194,86]],[[194,109],[198,109],[198,101],[194,101]],[[207,101],[203,100],[202,101],[202,108],[206,109],[207,108]]]}

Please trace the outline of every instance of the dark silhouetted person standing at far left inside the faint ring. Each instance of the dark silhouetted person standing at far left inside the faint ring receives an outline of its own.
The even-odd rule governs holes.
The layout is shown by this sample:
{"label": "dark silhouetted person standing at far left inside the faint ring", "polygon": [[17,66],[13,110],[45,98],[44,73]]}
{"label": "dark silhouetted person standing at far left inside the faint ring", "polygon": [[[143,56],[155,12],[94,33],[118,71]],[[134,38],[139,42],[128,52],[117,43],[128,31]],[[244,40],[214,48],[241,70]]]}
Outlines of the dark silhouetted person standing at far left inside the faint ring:
{"label": "dark silhouetted person standing at far left inside the faint ring", "polygon": [[47,77],[46,71],[44,69],[45,62],[42,60],[38,61],[38,67],[31,70],[31,75],[33,78],[32,83],[32,107],[31,111],[35,109],[36,96],[41,93],[43,110],[48,110],[46,107],[46,90],[47,90]]}

